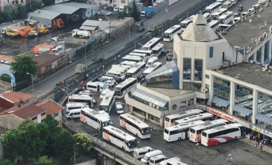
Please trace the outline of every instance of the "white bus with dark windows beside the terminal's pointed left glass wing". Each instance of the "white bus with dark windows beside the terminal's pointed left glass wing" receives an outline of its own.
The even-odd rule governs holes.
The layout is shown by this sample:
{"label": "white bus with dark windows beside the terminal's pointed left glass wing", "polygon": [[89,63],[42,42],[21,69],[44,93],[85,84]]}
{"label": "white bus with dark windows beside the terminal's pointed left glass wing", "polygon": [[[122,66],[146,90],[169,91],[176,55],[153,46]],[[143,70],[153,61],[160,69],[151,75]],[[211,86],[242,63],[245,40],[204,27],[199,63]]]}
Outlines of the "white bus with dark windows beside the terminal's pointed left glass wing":
{"label": "white bus with dark windows beside the terminal's pointed left glass wing", "polygon": [[136,84],[138,83],[136,78],[129,78],[124,82],[119,83],[114,87],[115,98],[122,99],[125,97],[125,94],[128,93]]}

